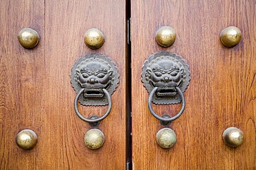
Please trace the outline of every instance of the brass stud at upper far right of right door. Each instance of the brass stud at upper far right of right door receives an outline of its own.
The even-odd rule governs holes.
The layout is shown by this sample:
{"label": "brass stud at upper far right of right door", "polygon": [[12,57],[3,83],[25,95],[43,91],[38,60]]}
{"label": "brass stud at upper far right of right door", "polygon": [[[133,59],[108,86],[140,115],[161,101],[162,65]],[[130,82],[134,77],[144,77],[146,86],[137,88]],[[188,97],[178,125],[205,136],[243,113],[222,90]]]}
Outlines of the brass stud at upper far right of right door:
{"label": "brass stud at upper far right of right door", "polygon": [[226,47],[234,47],[241,40],[241,31],[237,27],[230,26],[222,30],[219,36],[223,45]]}

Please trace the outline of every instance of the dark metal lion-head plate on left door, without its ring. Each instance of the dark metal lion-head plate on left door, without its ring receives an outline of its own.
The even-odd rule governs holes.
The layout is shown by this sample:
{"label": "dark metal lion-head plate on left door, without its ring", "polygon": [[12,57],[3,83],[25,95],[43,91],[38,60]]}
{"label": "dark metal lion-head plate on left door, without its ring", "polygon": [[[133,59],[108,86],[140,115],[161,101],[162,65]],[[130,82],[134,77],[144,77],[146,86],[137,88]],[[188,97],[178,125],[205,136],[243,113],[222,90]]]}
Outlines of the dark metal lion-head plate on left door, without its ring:
{"label": "dark metal lion-head plate on left door, without its ring", "polygon": [[[82,105],[109,105],[108,95],[113,94],[118,83],[118,68],[102,54],[81,56],[71,70],[71,85]],[[107,92],[104,93],[103,89]]]}

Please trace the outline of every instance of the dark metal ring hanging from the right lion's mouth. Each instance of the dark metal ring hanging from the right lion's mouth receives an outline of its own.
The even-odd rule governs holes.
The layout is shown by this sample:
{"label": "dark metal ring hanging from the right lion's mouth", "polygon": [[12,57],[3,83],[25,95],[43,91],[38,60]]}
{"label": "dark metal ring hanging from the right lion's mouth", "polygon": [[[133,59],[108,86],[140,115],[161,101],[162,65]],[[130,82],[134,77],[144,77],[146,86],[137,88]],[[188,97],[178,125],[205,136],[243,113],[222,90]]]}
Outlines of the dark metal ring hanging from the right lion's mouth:
{"label": "dark metal ring hanging from the right lion's mouth", "polygon": [[178,114],[176,114],[175,116],[173,116],[172,118],[162,118],[161,116],[158,116],[154,110],[152,109],[152,98],[154,93],[156,92],[156,90],[158,89],[158,87],[154,87],[154,89],[152,89],[152,91],[149,94],[149,102],[148,102],[148,107],[149,107],[149,111],[150,113],[157,118],[158,120],[161,120],[163,122],[172,122],[173,120],[176,120],[176,118],[179,118],[179,116],[181,116],[181,114],[183,114],[183,111],[185,109],[185,97],[183,95],[183,92],[181,92],[181,89],[179,87],[176,87],[177,92],[179,92],[179,95],[181,96],[181,102],[182,102],[182,106],[181,106],[181,110],[179,111]]}

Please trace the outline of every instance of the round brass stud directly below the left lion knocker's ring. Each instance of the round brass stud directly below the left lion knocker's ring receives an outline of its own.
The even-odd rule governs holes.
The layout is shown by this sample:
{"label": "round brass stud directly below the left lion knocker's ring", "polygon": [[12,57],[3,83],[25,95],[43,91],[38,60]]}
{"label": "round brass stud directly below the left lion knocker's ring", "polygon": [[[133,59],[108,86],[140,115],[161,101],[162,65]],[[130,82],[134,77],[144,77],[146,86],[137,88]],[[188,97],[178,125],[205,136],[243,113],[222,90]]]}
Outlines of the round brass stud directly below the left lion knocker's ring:
{"label": "round brass stud directly below the left lion knocker's ring", "polygon": [[89,149],[98,149],[104,143],[104,134],[99,129],[90,129],[84,136],[84,142]]}

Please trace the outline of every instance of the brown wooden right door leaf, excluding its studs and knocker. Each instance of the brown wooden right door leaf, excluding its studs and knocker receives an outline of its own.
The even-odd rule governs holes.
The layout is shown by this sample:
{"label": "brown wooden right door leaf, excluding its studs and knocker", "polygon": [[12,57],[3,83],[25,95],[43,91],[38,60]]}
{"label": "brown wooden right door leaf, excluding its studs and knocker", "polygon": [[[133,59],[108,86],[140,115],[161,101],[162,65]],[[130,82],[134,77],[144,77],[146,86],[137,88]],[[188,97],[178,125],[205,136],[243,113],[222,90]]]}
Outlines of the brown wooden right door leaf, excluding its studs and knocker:
{"label": "brown wooden right door leaf, excluding its studs and knocker", "polygon": [[[132,155],[134,169],[256,169],[256,30],[254,0],[131,1]],[[176,30],[172,47],[160,47],[154,34],[163,25]],[[243,38],[232,48],[219,41],[235,25]],[[147,108],[141,67],[159,51],[179,54],[190,65],[183,115],[169,127],[172,149],[158,147],[163,128]],[[156,113],[176,114],[180,105],[154,105]],[[224,145],[228,127],[244,131],[237,149]]]}

